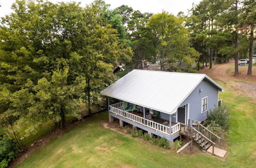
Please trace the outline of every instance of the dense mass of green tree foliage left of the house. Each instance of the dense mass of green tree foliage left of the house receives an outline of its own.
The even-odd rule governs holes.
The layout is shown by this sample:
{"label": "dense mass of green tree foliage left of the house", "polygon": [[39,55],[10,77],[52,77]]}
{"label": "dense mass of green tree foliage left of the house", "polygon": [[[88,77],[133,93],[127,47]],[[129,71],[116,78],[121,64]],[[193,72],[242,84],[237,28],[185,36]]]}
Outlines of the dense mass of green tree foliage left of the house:
{"label": "dense mass of green tree foliage left of the house", "polygon": [[29,126],[28,135],[49,120],[65,127],[66,115],[80,117],[81,104],[91,114],[99,91],[115,79],[115,61],[132,55],[115,24],[120,15],[103,19],[111,11],[102,1],[83,8],[22,0],[12,9],[0,26],[0,127],[14,136]]}

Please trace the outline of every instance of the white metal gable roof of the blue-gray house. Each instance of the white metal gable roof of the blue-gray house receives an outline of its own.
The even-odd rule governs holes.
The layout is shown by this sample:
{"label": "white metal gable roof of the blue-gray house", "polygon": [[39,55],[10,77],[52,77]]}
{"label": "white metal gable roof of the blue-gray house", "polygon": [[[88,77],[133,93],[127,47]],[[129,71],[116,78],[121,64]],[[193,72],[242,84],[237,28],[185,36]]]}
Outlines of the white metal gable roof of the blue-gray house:
{"label": "white metal gable roof of the blue-gray house", "polygon": [[224,91],[205,74],[133,70],[100,93],[173,114],[203,79]]}

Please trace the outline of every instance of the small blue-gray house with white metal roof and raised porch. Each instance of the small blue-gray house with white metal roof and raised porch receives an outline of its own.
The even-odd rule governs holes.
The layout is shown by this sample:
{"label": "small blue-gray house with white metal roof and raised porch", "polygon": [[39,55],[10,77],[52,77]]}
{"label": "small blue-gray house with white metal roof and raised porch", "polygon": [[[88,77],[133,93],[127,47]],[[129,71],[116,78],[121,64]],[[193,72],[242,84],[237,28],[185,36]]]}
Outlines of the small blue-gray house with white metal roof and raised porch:
{"label": "small blue-gray house with white metal roof and raised porch", "polygon": [[110,122],[117,118],[120,126],[132,124],[172,145],[189,121],[207,119],[223,91],[205,74],[133,70],[101,94],[118,102],[109,104]]}

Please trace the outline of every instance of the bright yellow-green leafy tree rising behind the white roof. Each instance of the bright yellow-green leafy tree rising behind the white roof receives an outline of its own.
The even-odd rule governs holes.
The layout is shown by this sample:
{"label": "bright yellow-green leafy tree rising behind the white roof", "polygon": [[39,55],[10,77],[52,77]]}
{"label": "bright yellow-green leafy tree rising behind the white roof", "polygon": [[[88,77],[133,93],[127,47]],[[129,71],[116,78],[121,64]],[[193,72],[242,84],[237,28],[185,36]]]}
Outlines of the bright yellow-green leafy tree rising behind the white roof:
{"label": "bright yellow-green leafy tree rising behind the white roof", "polygon": [[148,33],[152,34],[154,50],[161,64],[161,70],[165,70],[165,64],[182,61],[189,62],[190,59],[198,57],[199,53],[190,47],[188,31],[183,25],[183,19],[172,14],[162,12],[153,15],[147,23]]}

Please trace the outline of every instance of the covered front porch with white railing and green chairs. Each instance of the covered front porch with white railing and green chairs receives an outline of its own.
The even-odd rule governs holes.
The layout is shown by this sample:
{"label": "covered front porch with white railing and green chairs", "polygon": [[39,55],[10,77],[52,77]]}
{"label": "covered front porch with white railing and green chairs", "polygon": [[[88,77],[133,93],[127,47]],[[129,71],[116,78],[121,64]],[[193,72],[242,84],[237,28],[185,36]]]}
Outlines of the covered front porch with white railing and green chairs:
{"label": "covered front porch with white railing and green chairs", "polygon": [[114,116],[124,122],[140,126],[144,130],[152,130],[158,135],[160,133],[170,140],[177,137],[182,127],[176,119],[177,113],[170,115],[136,104],[127,105],[124,101],[109,105],[109,113],[110,117]]}

